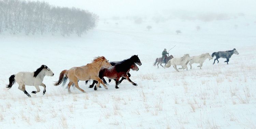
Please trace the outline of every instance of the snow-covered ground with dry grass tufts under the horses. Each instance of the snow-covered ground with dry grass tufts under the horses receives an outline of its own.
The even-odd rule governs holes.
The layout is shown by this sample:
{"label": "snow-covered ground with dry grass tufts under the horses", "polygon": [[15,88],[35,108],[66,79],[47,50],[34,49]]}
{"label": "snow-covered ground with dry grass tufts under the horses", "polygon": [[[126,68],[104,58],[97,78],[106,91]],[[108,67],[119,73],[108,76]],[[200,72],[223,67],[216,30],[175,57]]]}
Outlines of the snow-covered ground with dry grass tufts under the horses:
{"label": "snow-covered ground with dry grass tufts under the horses", "polygon": [[[109,22],[109,23],[106,23]],[[115,23],[118,22],[118,25]],[[250,25],[246,26],[246,23]],[[238,25],[234,29],[234,25]],[[146,26],[153,28],[148,31]],[[201,30],[197,31],[196,26]],[[181,30],[181,34],[176,34]],[[134,24],[129,20],[99,21],[82,37],[52,35],[0,35],[0,128],[256,128],[256,24],[244,18],[226,21],[168,20]],[[176,72],[153,66],[164,48],[174,57],[236,48],[229,65],[225,59],[202,70]],[[85,65],[96,56],[120,61],[138,54],[142,65],[131,71],[115,89],[94,91],[79,82],[87,93],[53,86],[64,69]],[[8,78],[19,71],[34,71],[42,64],[55,76],[45,77],[46,94],[27,97]],[[27,86],[28,92],[34,91]]]}

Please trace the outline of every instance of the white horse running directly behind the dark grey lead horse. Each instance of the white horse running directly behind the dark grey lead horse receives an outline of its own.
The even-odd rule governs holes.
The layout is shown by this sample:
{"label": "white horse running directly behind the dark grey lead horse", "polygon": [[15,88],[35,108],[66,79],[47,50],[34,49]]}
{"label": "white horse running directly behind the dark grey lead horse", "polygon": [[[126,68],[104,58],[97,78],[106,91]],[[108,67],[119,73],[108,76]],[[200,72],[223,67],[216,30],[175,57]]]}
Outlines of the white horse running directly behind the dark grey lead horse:
{"label": "white horse running directly behind the dark grey lead horse", "polygon": [[[201,55],[198,55],[198,56],[192,56],[192,57],[191,57],[192,60],[189,62],[190,69],[192,69],[192,64],[193,64],[193,63],[200,64],[200,65],[198,65],[197,67],[200,67],[200,69],[202,69],[203,62],[204,62],[207,58],[208,58],[209,60],[212,60],[213,57],[210,55],[210,53],[204,53],[204,54],[201,54]],[[187,62],[186,64],[188,64],[188,62]],[[185,67],[182,67],[182,68],[179,68],[179,69],[185,69]]]}

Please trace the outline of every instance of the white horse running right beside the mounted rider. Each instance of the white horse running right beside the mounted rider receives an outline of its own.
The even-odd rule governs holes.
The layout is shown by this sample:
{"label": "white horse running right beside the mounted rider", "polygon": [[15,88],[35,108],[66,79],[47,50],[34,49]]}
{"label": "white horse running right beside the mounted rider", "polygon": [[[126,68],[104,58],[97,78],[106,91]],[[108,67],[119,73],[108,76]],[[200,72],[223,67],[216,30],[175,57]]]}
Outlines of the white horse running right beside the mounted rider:
{"label": "white horse running right beside the mounted rider", "polygon": [[171,65],[173,65],[173,68],[176,69],[176,71],[179,72],[179,70],[177,69],[177,65],[181,65],[182,67],[187,68],[186,62],[189,61],[189,60],[192,60],[192,59],[190,59],[189,54],[184,54],[183,57],[173,58],[173,59],[169,60],[167,65],[165,66],[165,68],[166,67],[169,68]]}

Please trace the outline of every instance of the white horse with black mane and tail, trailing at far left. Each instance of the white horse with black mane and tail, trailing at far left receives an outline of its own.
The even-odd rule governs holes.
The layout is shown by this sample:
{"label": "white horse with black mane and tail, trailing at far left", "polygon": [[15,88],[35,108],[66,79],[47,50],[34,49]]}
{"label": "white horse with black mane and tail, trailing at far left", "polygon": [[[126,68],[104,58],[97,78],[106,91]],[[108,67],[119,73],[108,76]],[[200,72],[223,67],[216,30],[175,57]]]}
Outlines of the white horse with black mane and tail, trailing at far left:
{"label": "white horse with black mane and tail, trailing at far left", "polygon": [[9,85],[6,88],[11,88],[15,82],[19,84],[19,90],[23,91],[28,97],[31,97],[26,91],[25,85],[35,86],[37,91],[32,91],[31,93],[35,94],[40,92],[39,86],[44,87],[43,95],[46,92],[45,84],[43,83],[45,76],[54,76],[54,73],[46,65],[42,65],[34,72],[18,72],[16,75],[12,75],[9,78]]}

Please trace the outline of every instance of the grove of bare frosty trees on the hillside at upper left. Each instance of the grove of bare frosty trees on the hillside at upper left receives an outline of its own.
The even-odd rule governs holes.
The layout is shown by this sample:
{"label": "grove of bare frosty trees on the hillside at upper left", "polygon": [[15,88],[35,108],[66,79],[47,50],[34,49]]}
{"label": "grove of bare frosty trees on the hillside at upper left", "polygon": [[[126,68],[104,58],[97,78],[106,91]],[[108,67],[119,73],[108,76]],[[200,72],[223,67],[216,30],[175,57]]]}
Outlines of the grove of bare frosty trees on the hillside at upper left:
{"label": "grove of bare frosty trees on the hillside at upper left", "polygon": [[40,1],[0,0],[0,34],[60,33],[81,36],[96,27],[98,16],[75,7],[58,7]]}

